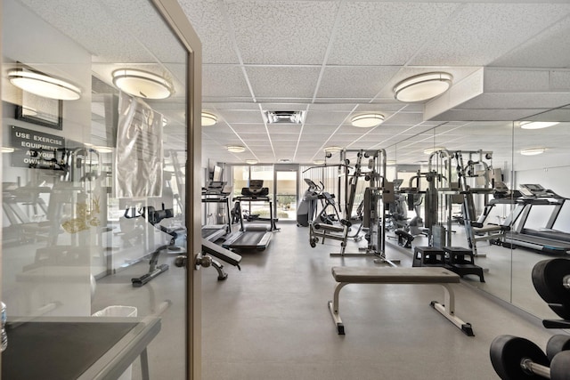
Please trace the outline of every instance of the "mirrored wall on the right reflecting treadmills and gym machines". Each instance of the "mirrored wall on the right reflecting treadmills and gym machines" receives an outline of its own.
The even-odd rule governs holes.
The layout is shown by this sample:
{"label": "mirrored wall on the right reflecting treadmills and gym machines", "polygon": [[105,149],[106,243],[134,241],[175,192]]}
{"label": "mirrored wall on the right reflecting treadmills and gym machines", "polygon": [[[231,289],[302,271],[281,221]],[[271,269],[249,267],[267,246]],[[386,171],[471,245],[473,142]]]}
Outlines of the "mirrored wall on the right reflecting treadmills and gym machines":
{"label": "mirrored wall on the right reflecting treadmills and gym machines", "polygon": [[[532,120],[558,124],[531,129],[525,122]],[[395,163],[403,189],[402,226],[414,235],[411,248],[399,247],[389,230],[387,242],[410,253],[433,244],[474,249],[485,282],[466,276],[469,285],[538,318],[557,319],[534,290],[531,272],[570,248],[569,120],[566,107],[525,121],[444,122],[387,147],[388,167]],[[419,150],[425,158],[411,161]],[[426,201],[432,183],[435,204]],[[406,188],[420,191],[412,196]],[[426,223],[435,223],[435,233]]]}

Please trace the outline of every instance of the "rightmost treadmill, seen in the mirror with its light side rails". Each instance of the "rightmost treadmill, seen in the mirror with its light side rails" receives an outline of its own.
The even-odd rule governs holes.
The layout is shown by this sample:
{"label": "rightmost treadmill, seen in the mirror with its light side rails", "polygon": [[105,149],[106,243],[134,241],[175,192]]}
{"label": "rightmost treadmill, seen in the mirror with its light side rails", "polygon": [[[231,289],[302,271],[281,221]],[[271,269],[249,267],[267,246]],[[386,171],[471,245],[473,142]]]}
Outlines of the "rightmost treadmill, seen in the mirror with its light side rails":
{"label": "rightmost treadmill, seen in the mirror with its light side rails", "polygon": [[[570,206],[566,202],[567,198],[544,189],[540,184],[522,184],[520,193],[522,197],[517,199],[517,207],[509,221],[514,228],[505,234],[503,246],[526,247],[549,254],[566,254],[570,251],[570,233],[553,228],[562,207],[565,204],[566,207]],[[543,228],[525,227],[529,216],[533,217],[534,207],[551,209],[548,222]]]}

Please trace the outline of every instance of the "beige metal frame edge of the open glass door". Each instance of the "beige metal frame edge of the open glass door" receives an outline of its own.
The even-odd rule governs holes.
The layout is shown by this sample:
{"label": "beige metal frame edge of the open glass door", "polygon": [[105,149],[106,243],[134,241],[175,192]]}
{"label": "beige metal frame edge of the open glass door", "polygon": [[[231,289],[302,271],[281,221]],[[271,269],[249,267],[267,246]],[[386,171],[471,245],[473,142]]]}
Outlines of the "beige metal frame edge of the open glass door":
{"label": "beige metal frame edge of the open glass door", "polygon": [[188,72],[186,75],[186,228],[188,230],[188,260],[186,264],[186,378],[201,378],[201,320],[202,289],[201,271],[193,263],[201,250],[201,184],[194,179],[201,178],[201,121],[202,110],[202,45],[191,27],[183,9],[176,0],[151,0],[168,26],[178,36],[188,51]]}

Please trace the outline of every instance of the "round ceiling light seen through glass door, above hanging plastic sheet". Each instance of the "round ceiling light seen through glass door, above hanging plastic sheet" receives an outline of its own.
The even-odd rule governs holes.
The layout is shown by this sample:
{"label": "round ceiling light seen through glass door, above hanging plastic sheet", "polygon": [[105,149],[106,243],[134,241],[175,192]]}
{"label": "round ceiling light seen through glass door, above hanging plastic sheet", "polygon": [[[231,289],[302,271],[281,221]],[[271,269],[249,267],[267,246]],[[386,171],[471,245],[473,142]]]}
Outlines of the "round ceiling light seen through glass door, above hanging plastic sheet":
{"label": "round ceiling light seen through glass door, above hanging plastic sheet", "polygon": [[117,69],[111,73],[113,85],[129,95],[145,99],[166,99],[175,93],[164,77],[139,69]]}

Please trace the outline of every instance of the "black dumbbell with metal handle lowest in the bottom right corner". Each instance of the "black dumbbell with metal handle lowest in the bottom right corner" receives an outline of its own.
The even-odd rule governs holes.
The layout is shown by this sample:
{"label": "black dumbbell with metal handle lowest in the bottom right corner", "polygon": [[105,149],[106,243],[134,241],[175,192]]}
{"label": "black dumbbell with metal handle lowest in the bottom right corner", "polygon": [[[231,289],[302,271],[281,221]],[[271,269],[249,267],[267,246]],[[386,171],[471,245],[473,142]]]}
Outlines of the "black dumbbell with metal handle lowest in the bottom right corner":
{"label": "black dumbbell with metal handle lowest in the bottom right corner", "polygon": [[541,348],[518,336],[497,336],[490,349],[491,363],[502,380],[570,380],[570,351],[558,352],[552,361]]}

